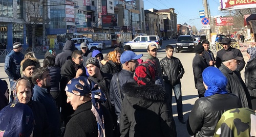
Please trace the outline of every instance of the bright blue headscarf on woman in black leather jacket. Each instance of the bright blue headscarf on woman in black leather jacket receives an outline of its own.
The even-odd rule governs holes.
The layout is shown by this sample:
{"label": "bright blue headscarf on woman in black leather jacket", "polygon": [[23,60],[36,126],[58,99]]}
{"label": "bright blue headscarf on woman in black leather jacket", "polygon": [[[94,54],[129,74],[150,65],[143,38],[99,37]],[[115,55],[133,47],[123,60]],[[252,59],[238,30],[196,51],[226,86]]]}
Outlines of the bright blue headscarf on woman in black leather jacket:
{"label": "bright blue headscarf on woman in black leather jacket", "polygon": [[203,71],[203,82],[208,87],[204,96],[208,97],[214,94],[227,94],[226,85],[227,78],[215,67],[208,67]]}

